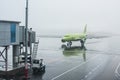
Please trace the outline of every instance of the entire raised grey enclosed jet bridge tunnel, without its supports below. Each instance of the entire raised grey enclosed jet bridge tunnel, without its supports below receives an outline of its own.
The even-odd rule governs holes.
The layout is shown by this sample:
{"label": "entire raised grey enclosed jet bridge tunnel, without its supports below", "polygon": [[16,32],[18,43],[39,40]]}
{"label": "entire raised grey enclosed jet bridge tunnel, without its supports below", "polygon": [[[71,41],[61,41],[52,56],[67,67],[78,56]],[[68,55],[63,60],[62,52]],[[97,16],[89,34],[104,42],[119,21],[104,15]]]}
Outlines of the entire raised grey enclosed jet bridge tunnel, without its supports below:
{"label": "entire raised grey enclosed jet bridge tunnel, without its supports below", "polygon": [[[0,20],[0,46],[25,44],[25,26],[19,26],[19,21]],[[32,37],[30,39],[30,36]],[[28,42],[35,42],[35,31],[28,30]]]}

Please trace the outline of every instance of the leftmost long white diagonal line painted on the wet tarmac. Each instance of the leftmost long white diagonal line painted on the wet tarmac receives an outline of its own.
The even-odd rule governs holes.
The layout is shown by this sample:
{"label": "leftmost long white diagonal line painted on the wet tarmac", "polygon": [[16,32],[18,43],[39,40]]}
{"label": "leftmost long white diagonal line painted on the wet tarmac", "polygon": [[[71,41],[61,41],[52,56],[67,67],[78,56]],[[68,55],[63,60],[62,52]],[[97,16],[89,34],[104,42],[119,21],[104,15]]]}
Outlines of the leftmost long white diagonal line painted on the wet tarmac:
{"label": "leftmost long white diagonal line painted on the wet tarmac", "polygon": [[[98,56],[99,56],[99,55],[97,55],[97,56],[91,58],[89,61],[91,61],[91,60],[94,59],[94,58],[97,58]],[[69,72],[71,72],[71,71],[77,69],[78,67],[80,67],[80,66],[82,66],[82,65],[84,65],[84,64],[86,64],[86,63],[88,63],[89,61],[83,62],[83,63],[79,64],[78,66],[75,66],[75,67],[73,67],[73,68],[71,68],[71,69],[69,69],[69,70],[63,72],[62,74],[60,74],[60,75],[58,75],[58,76],[52,78],[51,80],[55,80],[55,79],[57,79],[57,78],[63,76],[64,74],[67,74],[67,73],[69,73]]]}

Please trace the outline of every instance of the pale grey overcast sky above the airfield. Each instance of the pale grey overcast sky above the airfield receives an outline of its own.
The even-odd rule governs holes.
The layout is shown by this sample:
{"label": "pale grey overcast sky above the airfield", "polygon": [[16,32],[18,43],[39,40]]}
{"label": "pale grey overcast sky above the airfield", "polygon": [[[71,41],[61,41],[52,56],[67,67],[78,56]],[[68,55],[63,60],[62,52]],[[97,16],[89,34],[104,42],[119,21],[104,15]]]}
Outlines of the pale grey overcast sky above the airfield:
{"label": "pale grey overcast sky above the airfield", "polygon": [[[0,0],[0,19],[25,23],[25,0]],[[120,0],[29,0],[29,27],[39,34],[120,32]]]}

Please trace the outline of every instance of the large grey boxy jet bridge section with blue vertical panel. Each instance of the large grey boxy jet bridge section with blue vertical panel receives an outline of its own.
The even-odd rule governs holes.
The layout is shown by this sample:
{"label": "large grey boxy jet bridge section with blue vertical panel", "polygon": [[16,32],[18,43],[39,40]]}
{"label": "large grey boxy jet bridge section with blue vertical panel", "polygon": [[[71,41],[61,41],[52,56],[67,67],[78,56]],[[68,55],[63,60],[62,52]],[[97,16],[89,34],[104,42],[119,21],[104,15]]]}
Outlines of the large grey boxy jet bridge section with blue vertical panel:
{"label": "large grey boxy jet bridge section with blue vertical panel", "polygon": [[19,23],[0,20],[0,46],[19,44]]}

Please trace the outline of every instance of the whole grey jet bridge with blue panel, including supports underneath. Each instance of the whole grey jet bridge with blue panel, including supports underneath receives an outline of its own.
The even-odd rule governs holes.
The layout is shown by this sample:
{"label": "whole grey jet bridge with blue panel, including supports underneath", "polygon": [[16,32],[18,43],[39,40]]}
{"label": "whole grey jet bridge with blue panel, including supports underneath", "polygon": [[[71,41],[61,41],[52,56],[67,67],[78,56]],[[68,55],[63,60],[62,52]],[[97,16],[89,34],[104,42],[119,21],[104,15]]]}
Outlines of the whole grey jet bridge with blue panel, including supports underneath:
{"label": "whole grey jet bridge with blue panel, including supports underneath", "polygon": [[[20,26],[19,24],[19,21],[0,20],[0,65],[2,66],[0,68],[0,75],[2,75],[1,72],[3,71],[9,72],[9,70],[13,70],[15,72],[15,68],[23,67],[20,63],[19,56],[25,55],[25,27]],[[35,43],[36,41],[36,34],[32,29],[29,29],[27,33],[27,42],[28,47],[30,48],[30,51],[27,54],[31,57],[32,43]],[[9,61],[12,61],[12,66],[10,67]]]}

